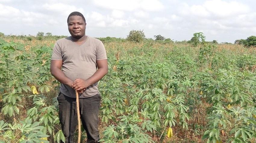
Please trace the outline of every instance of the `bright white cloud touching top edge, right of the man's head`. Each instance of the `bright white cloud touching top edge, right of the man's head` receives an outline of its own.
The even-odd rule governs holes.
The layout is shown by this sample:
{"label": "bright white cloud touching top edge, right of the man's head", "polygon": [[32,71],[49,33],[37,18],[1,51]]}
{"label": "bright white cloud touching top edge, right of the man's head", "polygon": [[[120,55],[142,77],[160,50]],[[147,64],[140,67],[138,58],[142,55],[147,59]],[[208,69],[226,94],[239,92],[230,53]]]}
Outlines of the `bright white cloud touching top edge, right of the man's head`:
{"label": "bright white cloud touching top edge, right of the man's head", "polygon": [[117,9],[122,11],[134,11],[143,9],[145,11],[160,11],[164,5],[158,0],[94,0],[94,4],[106,9]]}

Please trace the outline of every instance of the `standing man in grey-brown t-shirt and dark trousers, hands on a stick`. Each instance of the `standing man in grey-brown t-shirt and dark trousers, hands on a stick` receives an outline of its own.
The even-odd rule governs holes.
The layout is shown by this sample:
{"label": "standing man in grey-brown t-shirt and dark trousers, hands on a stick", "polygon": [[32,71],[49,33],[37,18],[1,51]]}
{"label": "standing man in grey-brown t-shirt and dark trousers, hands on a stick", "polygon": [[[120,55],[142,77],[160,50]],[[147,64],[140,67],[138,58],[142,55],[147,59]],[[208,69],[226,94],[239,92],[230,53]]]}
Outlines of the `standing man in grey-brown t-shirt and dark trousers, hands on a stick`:
{"label": "standing man in grey-brown t-shirt and dark trousers, hands on a stick", "polygon": [[[61,83],[59,117],[65,143],[73,143],[77,126],[76,93],[82,125],[87,142],[98,142],[98,112],[101,96],[97,82],[108,73],[106,50],[98,39],[85,35],[86,20],[80,12],[67,18],[71,36],[55,43],[51,60],[51,74]],[[98,70],[97,70],[98,67]]]}

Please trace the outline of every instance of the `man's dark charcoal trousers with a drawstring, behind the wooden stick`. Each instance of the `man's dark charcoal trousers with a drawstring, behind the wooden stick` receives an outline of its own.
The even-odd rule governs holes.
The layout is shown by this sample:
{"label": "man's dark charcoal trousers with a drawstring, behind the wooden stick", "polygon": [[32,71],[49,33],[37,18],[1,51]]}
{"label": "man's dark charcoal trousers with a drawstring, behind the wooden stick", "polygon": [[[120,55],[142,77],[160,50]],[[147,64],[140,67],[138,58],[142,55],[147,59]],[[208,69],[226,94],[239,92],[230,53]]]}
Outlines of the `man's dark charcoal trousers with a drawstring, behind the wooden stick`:
{"label": "man's dark charcoal trousers with a drawstring, behind the wooden stick", "polygon": [[[76,99],[59,94],[59,117],[62,131],[65,135],[65,143],[73,143],[74,132],[76,130],[77,111]],[[83,128],[86,130],[87,143],[97,143],[99,141],[98,113],[100,108],[101,96],[79,99],[80,118]]]}

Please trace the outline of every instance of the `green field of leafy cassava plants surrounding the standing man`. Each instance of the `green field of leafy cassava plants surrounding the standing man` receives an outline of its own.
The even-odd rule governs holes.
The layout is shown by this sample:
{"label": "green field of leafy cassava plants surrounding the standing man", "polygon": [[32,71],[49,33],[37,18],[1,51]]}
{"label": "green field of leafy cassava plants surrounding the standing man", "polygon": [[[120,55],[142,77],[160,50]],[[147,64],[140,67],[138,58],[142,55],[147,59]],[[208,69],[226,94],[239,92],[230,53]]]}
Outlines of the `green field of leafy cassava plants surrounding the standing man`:
{"label": "green field of leafy cassava plants surrounding the standing man", "polygon": [[[109,67],[98,85],[102,142],[256,142],[254,47],[101,40]],[[63,139],[50,74],[55,41],[0,40],[1,143]]]}

